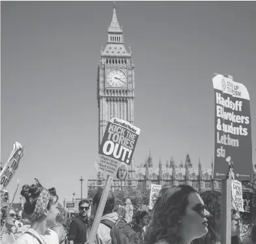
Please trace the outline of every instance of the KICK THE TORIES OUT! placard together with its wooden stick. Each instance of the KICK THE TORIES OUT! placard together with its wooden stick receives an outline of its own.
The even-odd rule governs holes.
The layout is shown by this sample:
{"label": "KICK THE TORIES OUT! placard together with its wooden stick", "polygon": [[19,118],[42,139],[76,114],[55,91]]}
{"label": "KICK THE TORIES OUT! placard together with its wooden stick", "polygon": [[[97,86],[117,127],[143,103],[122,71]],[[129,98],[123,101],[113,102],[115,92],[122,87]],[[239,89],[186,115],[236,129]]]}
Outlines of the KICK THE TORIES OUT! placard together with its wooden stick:
{"label": "KICK THE TORIES OUT! placard together with its wooden stick", "polygon": [[[107,180],[92,224],[89,244],[94,243],[113,178],[125,180],[128,174],[127,165],[132,163],[132,156],[134,155],[139,133],[139,128],[119,118],[112,117],[107,124],[102,143],[100,144],[98,159],[94,165],[97,171],[107,174]],[[129,213],[132,213],[132,211],[130,209],[126,210],[126,215],[129,215]],[[127,220],[130,221],[129,219]]]}

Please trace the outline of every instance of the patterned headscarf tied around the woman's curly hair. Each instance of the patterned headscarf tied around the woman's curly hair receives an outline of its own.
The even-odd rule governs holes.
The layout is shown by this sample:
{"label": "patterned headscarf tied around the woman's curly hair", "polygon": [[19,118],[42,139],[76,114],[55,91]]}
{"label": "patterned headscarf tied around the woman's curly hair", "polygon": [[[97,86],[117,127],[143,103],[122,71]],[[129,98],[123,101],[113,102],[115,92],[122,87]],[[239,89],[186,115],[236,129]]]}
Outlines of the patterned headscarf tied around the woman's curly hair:
{"label": "patterned headscarf tied around the woman's curly hair", "polygon": [[[36,182],[36,184],[42,187],[42,185],[39,182]],[[47,189],[42,187],[42,191],[38,199],[36,200],[35,210],[33,211],[33,213],[29,215],[32,221],[35,221],[36,219],[44,215],[44,213],[47,213],[47,206],[50,201],[50,197],[51,197],[50,192]]]}

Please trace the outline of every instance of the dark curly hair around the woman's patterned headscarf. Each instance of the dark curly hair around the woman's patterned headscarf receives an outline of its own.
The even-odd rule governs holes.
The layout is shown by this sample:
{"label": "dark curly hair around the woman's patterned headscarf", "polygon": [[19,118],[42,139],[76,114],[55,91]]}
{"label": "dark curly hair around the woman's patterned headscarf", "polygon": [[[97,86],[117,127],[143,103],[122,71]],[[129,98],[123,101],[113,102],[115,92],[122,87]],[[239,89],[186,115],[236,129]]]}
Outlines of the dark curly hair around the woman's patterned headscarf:
{"label": "dark curly hair around the woman's patterned headscarf", "polygon": [[[24,212],[30,215],[35,210],[36,201],[44,188],[40,187],[39,185],[23,185],[21,190],[21,196],[25,197],[25,204],[24,204]],[[53,202],[56,202],[55,198],[59,199],[58,195],[56,194],[56,189],[50,188],[48,189],[50,192],[50,201],[48,202],[47,209],[50,210],[50,206]]]}

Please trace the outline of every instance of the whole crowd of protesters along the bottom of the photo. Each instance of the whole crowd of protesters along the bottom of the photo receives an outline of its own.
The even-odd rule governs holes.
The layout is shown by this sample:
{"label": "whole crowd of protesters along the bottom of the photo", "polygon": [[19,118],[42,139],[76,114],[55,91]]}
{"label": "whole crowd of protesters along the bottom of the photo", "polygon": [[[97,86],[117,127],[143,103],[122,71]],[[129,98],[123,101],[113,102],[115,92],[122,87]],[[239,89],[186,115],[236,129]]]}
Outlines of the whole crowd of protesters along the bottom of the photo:
{"label": "whole crowd of protesters along the bottom of the photo", "polygon": [[[8,206],[1,208],[1,243],[88,243],[102,193],[103,189],[99,188],[92,201],[81,200],[79,213],[68,218],[57,208],[59,197],[55,188],[45,189],[39,182],[23,185],[22,213]],[[137,244],[220,244],[221,208],[215,198],[214,201],[213,204],[201,197],[190,185],[163,187],[152,211],[139,208],[132,223],[122,226],[126,226],[126,232],[131,233],[135,238],[133,243]],[[124,216],[114,209],[115,193],[110,191],[94,244],[122,244],[113,241],[117,237],[113,226]],[[231,209],[231,244],[256,244],[256,226],[242,226],[239,212]]]}

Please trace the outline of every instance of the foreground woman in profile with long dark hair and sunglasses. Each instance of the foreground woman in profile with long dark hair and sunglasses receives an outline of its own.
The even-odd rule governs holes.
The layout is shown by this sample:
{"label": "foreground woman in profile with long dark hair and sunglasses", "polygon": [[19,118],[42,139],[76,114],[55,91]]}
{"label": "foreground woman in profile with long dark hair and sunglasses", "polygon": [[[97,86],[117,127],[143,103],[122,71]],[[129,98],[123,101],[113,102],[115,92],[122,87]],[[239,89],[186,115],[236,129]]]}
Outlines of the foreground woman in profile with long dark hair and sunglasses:
{"label": "foreground woman in profile with long dark hair and sunglasses", "polygon": [[189,244],[208,232],[209,213],[190,185],[164,187],[152,210],[147,244]]}

